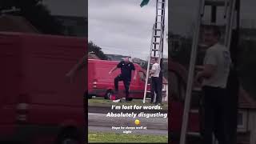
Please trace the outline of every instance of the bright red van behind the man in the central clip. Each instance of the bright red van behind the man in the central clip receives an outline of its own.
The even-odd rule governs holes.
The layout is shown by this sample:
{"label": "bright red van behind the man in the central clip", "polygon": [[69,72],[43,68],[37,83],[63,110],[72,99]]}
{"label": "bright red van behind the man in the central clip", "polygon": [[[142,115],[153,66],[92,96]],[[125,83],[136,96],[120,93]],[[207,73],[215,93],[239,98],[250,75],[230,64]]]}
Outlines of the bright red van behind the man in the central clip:
{"label": "bright red van behind the man in the central clip", "polygon": [[[114,91],[114,78],[121,74],[121,70],[115,70],[109,74],[110,70],[117,66],[118,61],[106,61],[98,59],[88,59],[88,94],[91,97],[96,95],[99,97],[110,98]],[[134,72],[132,72],[132,80],[130,82],[130,98],[143,98],[146,72],[141,66],[134,63],[135,70],[137,70],[137,77],[134,80]],[[123,82],[119,82],[119,97],[125,98],[125,88]],[[148,86],[150,90],[150,86]],[[121,92],[123,91],[123,93]]]}

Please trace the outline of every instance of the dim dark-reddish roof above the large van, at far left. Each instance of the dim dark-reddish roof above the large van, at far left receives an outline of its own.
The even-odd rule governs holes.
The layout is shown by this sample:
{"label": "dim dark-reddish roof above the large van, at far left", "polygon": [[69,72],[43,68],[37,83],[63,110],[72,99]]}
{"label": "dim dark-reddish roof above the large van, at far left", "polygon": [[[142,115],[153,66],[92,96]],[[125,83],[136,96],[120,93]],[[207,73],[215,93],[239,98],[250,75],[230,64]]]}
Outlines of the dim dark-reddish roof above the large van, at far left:
{"label": "dim dark-reddish roof above the large van, at far left", "polygon": [[0,31],[40,33],[26,18],[7,14],[0,16]]}

